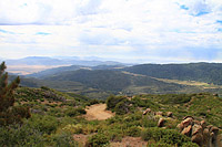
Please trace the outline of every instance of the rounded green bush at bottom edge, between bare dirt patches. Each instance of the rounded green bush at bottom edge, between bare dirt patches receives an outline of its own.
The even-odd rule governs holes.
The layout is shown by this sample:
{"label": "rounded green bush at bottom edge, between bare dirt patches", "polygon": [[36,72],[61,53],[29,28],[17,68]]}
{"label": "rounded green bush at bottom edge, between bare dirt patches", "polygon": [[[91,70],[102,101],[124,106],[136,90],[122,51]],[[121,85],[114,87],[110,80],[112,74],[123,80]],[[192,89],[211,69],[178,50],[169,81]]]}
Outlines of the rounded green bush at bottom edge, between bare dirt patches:
{"label": "rounded green bush at bottom edge, between bare dirt patches", "polygon": [[109,138],[105,134],[97,134],[92,135],[88,143],[87,147],[102,147],[109,144]]}

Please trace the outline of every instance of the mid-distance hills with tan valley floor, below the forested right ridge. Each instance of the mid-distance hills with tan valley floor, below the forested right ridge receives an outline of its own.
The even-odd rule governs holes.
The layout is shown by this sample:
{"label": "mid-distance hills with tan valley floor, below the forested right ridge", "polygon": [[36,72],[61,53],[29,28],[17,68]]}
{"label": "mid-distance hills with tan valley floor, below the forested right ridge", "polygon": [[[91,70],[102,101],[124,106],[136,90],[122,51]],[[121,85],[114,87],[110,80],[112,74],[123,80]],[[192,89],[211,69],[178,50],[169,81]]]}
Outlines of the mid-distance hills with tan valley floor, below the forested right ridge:
{"label": "mid-distance hills with tan valley floor, below the forested right ridge", "polygon": [[22,86],[48,86],[91,98],[105,98],[110,94],[221,93],[221,87],[216,85],[189,83],[190,81],[170,81],[113,70],[77,70],[47,75],[43,80],[26,76],[21,78]]}

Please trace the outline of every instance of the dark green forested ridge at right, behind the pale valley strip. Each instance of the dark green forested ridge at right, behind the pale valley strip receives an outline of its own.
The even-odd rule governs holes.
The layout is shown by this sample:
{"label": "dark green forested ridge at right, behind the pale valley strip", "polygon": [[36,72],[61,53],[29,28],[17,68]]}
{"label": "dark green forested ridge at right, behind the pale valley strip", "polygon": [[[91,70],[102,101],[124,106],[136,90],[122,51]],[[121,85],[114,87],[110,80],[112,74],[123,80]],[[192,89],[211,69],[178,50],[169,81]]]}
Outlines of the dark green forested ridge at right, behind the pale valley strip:
{"label": "dark green forested ridge at right, behind the pale valley strip", "polygon": [[159,78],[198,81],[222,85],[221,63],[141,64],[125,67],[123,71]]}

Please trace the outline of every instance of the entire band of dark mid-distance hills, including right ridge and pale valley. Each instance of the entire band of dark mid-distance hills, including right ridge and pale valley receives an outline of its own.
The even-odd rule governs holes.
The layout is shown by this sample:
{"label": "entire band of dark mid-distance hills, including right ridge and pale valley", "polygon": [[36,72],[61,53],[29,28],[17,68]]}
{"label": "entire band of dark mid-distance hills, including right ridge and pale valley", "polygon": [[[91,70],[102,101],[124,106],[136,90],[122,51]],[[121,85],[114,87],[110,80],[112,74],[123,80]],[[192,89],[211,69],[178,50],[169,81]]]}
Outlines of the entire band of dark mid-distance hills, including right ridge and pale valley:
{"label": "entire band of dark mid-distance hills, including right ridge and pale valley", "polygon": [[21,84],[101,98],[110,94],[222,93],[222,64],[71,65],[23,76]]}

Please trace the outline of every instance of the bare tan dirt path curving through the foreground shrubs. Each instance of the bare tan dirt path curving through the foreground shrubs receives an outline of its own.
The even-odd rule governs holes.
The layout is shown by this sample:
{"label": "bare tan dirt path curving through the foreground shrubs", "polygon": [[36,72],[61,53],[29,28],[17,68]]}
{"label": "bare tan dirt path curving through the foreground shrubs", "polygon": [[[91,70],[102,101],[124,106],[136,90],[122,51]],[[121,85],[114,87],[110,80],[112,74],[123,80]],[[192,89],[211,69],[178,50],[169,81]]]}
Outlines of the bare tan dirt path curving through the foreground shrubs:
{"label": "bare tan dirt path curving through the foreground shrubs", "polygon": [[113,113],[111,113],[110,111],[105,111],[105,108],[107,108],[105,104],[91,105],[85,109],[87,111],[85,118],[88,120],[92,119],[103,120],[114,116]]}

